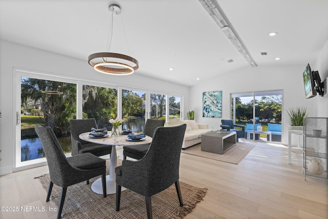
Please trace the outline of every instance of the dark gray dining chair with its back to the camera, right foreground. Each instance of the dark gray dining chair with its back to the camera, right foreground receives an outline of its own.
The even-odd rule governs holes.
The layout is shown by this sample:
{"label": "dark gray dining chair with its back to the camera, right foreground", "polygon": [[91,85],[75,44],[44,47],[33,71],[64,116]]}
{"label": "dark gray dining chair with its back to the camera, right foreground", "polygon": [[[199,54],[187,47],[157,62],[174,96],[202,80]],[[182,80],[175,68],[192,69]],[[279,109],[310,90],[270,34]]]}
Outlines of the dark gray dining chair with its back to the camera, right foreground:
{"label": "dark gray dining chair with its back to the camera, right foreground", "polygon": [[148,218],[152,218],[151,197],[175,184],[180,206],[180,153],[186,124],[156,128],[149,150],[141,160],[123,160],[115,168],[116,211],[120,207],[121,187],[145,196]]}

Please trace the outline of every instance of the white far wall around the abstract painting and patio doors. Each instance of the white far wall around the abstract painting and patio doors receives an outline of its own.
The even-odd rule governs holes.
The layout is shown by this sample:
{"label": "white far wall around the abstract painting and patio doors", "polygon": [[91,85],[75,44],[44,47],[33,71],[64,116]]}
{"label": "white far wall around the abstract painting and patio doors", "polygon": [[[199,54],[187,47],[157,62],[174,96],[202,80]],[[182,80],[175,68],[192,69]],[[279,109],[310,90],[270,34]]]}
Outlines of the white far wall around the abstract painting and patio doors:
{"label": "white far wall around the abstract painting and patio doors", "polygon": [[[327,44],[323,48],[324,54],[317,59],[316,64],[321,64],[322,69],[318,69],[315,63],[310,63],[313,69],[318,69],[320,75],[327,76]],[[282,143],[288,144],[289,118],[286,109],[290,107],[306,107],[308,116],[328,117],[327,96],[315,96],[305,99],[302,73],[307,63],[300,66],[258,66],[249,67],[234,72],[227,72],[206,82],[190,88],[189,110],[195,111],[195,120],[198,123],[207,123],[214,130],[221,129],[221,119],[231,118],[230,94],[244,93],[252,91],[283,91],[282,103]],[[202,92],[222,91],[222,118],[202,117]],[[320,108],[320,109],[317,109]]]}

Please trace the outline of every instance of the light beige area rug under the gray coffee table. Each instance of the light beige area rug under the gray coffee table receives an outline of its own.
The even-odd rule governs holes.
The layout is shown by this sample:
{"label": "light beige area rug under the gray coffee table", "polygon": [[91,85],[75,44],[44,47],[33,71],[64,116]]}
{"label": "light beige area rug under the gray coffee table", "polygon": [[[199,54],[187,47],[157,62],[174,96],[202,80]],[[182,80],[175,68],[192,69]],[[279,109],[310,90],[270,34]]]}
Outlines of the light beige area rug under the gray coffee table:
{"label": "light beige area rug under the gray coffee table", "polygon": [[201,144],[197,144],[181,150],[181,153],[192,154],[196,156],[206,157],[212,160],[227,162],[231,164],[239,164],[245,156],[256,146],[256,142],[237,142],[236,146],[228,150],[224,154],[211,153],[201,151]]}

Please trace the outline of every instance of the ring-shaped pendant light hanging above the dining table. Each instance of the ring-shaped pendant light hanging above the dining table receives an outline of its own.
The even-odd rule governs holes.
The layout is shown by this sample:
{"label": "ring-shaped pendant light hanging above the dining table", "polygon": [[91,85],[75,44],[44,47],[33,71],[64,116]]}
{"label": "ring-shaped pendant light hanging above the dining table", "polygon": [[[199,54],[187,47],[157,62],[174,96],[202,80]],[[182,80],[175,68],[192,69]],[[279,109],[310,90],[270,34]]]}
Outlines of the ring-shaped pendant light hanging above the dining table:
{"label": "ring-shaped pendant light hanging above the dining table", "polygon": [[[111,34],[113,34],[113,18],[114,15],[119,15],[121,13],[121,8],[116,4],[112,4],[109,6],[109,11],[112,14]],[[109,52],[111,42],[112,37],[110,37],[110,42],[107,46],[108,52],[99,52],[89,55],[88,63],[94,67],[96,71],[102,73],[114,75],[132,74],[139,68],[139,62],[131,56]]]}

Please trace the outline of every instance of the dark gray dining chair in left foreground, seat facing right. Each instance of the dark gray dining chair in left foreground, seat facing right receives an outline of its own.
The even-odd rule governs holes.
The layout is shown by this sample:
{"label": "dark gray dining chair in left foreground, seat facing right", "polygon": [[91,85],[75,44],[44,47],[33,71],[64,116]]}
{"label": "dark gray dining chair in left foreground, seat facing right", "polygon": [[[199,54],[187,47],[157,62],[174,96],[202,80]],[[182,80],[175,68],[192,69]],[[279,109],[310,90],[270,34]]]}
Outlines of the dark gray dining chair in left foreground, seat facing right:
{"label": "dark gray dining chair in left foreground, seat facing right", "polygon": [[46,154],[50,184],[46,202],[49,202],[53,184],[61,187],[57,218],[63,211],[67,187],[101,175],[103,194],[106,197],[106,161],[91,153],[66,157],[50,127],[36,126],[37,133]]}

